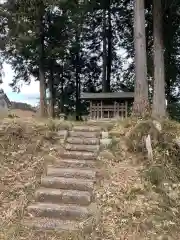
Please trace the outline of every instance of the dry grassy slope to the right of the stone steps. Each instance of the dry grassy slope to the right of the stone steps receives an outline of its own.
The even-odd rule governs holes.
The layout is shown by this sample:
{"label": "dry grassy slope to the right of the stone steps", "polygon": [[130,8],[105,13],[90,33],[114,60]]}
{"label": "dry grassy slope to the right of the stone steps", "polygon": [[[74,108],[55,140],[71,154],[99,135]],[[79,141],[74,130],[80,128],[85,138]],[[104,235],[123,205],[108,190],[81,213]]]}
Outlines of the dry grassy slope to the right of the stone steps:
{"label": "dry grassy slope to the right of the stone steps", "polygon": [[[101,239],[180,239],[180,149],[173,139],[180,124],[126,120],[111,131],[113,144],[104,151],[104,180],[97,189],[101,206]],[[151,135],[153,159],[143,136]]]}

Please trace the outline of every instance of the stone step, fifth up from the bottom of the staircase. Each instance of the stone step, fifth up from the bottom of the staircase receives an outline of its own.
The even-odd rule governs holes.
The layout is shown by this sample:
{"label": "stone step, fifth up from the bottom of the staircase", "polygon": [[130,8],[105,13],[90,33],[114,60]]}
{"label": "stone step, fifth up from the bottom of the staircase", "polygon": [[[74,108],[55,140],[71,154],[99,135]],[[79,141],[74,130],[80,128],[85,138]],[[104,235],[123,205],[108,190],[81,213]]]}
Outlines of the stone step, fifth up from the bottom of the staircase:
{"label": "stone step, fifth up from the bottom of the staircase", "polygon": [[91,169],[86,170],[86,169],[79,169],[79,168],[47,167],[47,176],[95,179],[96,171]]}

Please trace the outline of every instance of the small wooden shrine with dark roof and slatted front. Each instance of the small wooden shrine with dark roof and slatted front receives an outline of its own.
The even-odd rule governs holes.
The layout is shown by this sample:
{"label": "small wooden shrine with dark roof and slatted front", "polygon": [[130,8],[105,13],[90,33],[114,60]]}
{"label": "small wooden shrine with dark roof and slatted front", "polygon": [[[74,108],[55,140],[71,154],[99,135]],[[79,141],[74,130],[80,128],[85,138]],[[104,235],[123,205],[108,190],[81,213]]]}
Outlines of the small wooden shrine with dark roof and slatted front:
{"label": "small wooden shrine with dark roof and slatted front", "polygon": [[82,93],[88,101],[90,119],[126,118],[133,103],[133,92]]}

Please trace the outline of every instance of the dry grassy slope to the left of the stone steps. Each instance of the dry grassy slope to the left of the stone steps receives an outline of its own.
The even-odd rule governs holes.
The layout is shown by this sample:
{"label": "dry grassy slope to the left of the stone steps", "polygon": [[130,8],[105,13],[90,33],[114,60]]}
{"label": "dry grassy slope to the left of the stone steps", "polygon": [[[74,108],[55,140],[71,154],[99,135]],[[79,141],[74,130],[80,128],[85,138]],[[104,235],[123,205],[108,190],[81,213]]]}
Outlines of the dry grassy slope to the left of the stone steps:
{"label": "dry grassy slope to the left of the stone steps", "polygon": [[58,130],[67,127],[61,122],[32,119],[0,122],[1,240],[40,239],[23,228],[21,220],[27,213],[27,205],[34,201],[46,165],[58,158],[63,147]]}

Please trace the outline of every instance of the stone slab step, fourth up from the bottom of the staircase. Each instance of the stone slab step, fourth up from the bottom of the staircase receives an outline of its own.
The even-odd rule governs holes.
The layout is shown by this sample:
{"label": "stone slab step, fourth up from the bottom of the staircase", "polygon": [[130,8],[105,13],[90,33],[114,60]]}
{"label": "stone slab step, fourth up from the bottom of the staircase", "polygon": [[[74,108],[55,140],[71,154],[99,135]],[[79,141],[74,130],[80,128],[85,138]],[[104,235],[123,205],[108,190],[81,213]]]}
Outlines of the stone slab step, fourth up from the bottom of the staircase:
{"label": "stone slab step, fourth up from the bottom of the staircase", "polygon": [[89,179],[43,177],[41,186],[46,188],[68,189],[79,191],[93,191],[94,181]]}

